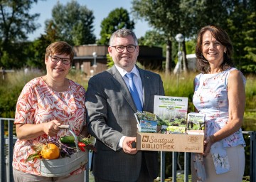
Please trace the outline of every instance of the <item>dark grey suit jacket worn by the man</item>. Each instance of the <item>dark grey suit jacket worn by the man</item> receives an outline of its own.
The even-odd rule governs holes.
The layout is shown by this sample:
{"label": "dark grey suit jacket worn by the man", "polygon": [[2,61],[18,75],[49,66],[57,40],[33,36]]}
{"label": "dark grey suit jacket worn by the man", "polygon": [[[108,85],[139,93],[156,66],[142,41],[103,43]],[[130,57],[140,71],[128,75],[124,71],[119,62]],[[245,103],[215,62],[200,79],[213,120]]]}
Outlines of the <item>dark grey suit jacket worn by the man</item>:
{"label": "dark grey suit jacket worn by the man", "polygon": [[[164,95],[160,75],[139,69],[144,92],[144,111],[154,112],[154,95]],[[117,68],[113,66],[90,78],[86,92],[88,132],[96,138],[97,152],[92,172],[109,181],[136,181],[142,165],[142,152],[152,178],[159,174],[156,151],[125,154],[119,147],[122,136],[136,137],[136,106]]]}

